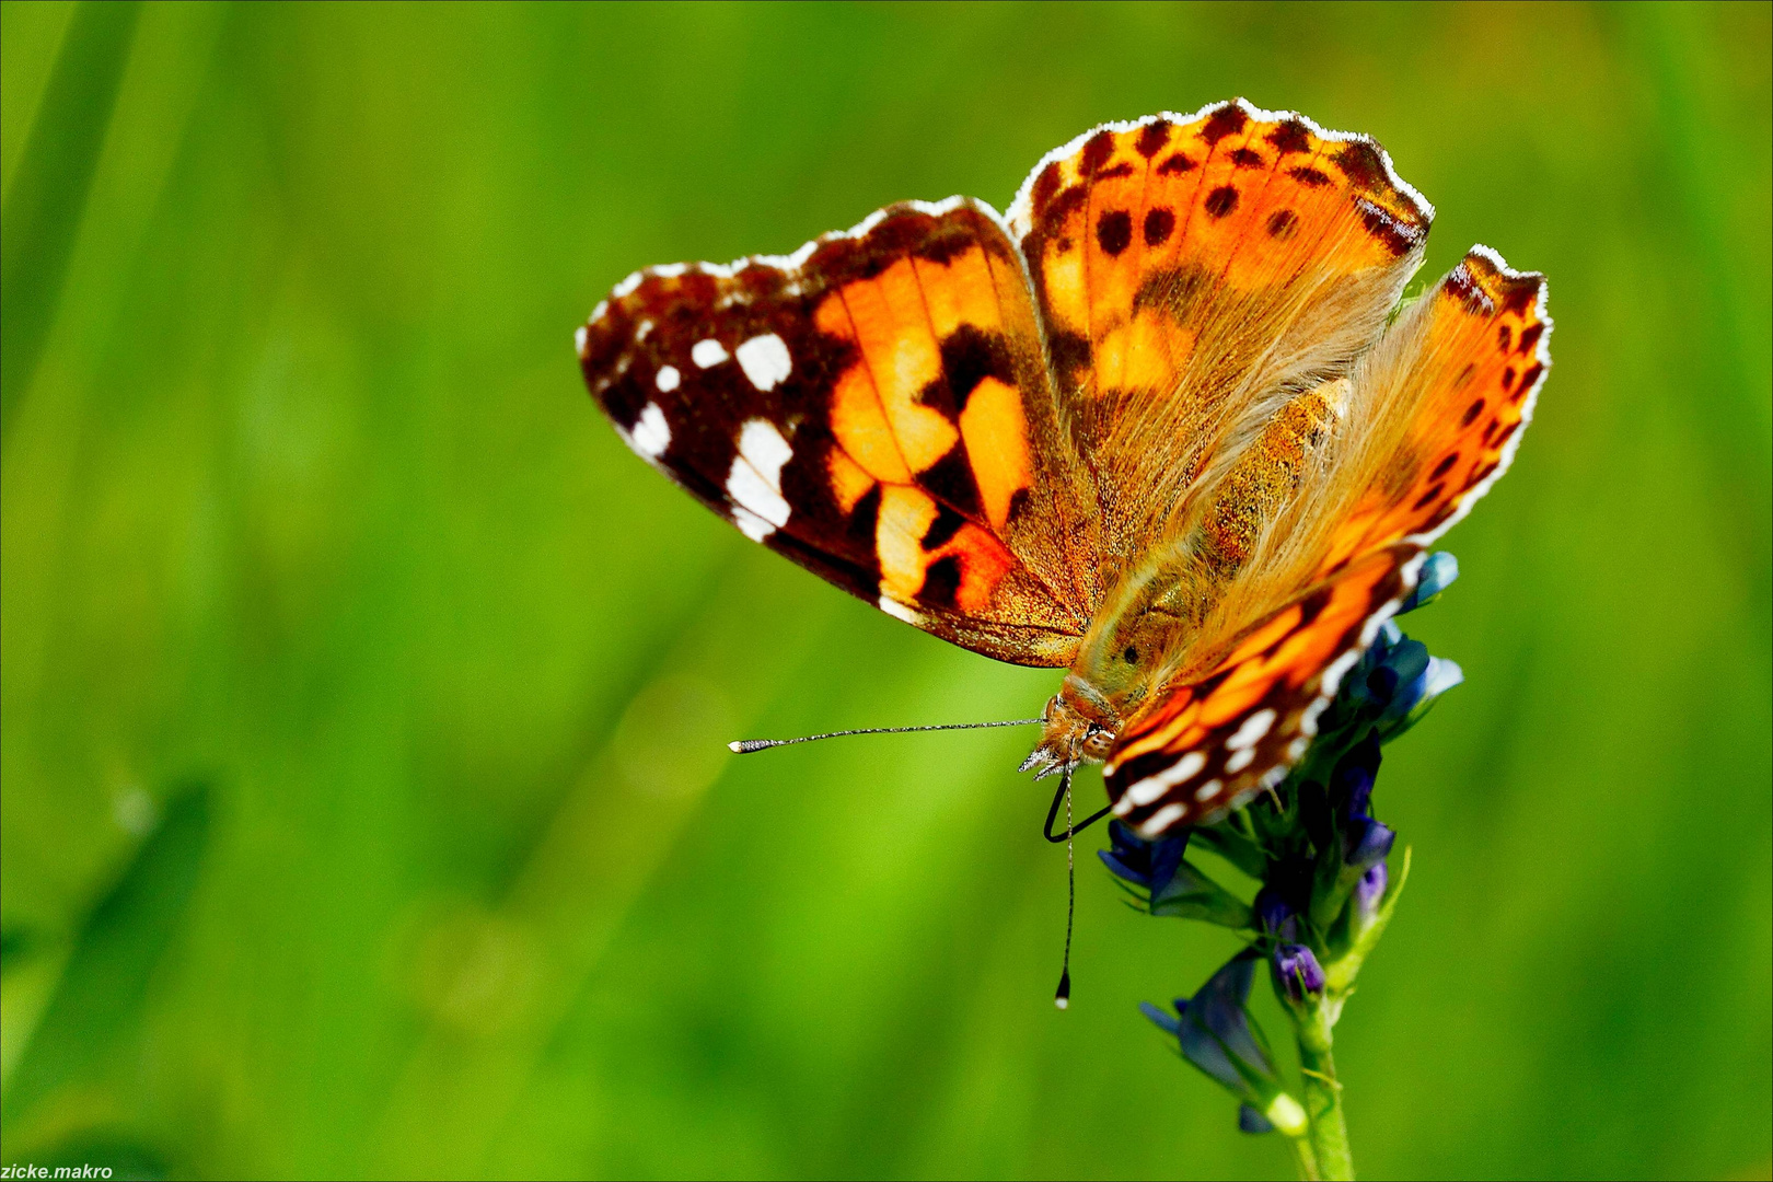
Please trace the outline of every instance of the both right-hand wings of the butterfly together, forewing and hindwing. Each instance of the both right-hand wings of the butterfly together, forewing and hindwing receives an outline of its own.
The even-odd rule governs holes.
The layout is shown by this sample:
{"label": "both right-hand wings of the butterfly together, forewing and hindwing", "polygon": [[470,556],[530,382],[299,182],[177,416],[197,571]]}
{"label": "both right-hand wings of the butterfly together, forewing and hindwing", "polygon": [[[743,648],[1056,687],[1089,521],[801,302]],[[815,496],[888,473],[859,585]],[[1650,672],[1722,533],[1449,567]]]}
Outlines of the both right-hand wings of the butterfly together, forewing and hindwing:
{"label": "both right-hand wings of the butterfly together, forewing and hindwing", "polygon": [[1360,360],[1324,468],[1216,617],[1262,622],[1122,728],[1105,776],[1117,813],[1149,835],[1211,822],[1298,762],[1425,548],[1507,470],[1550,328],[1544,276],[1479,246]]}

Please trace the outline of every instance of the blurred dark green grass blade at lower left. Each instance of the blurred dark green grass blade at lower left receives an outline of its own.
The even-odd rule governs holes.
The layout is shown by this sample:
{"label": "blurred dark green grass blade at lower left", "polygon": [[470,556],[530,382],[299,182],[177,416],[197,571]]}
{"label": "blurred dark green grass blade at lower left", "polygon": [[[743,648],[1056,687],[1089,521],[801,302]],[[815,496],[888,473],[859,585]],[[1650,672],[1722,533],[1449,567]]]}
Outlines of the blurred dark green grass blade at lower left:
{"label": "blurred dark green grass blade at lower left", "polygon": [[197,886],[209,836],[209,787],[188,783],[165,808],[74,939],[60,987],[0,1102],[9,1132],[35,1100],[99,1067],[140,1021],[149,976]]}

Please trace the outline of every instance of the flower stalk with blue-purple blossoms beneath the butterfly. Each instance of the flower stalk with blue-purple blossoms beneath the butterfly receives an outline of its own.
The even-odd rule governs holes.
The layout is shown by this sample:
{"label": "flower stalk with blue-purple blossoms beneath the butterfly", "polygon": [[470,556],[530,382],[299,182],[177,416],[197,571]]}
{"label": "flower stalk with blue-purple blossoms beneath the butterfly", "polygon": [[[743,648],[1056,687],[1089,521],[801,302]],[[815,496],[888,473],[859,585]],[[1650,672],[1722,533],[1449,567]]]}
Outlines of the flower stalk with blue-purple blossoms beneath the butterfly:
{"label": "flower stalk with blue-purple blossoms beneath the butterfly", "polygon": [[[1436,599],[1457,574],[1452,555],[1431,555],[1402,611]],[[1386,622],[1319,718],[1305,758],[1271,792],[1213,826],[1158,842],[1113,822],[1112,849],[1099,852],[1136,909],[1245,937],[1243,952],[1193,998],[1177,998],[1170,1010],[1142,1008],[1184,1060],[1238,1099],[1239,1129],[1287,1138],[1303,1178],[1355,1177],[1333,1031],[1410,877],[1410,851],[1394,877],[1397,835],[1372,815],[1381,748],[1459,680],[1457,665],[1431,657]],[[1243,902],[1190,863],[1190,844],[1257,879],[1255,898]],[[1257,962],[1266,962],[1293,1026],[1296,1090],[1248,1010]]]}

